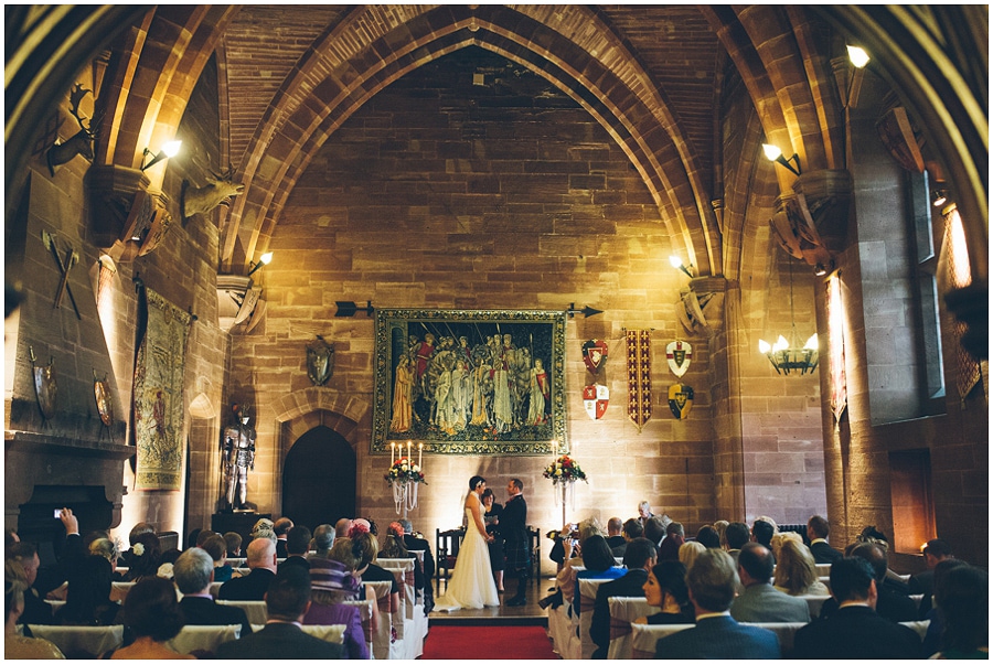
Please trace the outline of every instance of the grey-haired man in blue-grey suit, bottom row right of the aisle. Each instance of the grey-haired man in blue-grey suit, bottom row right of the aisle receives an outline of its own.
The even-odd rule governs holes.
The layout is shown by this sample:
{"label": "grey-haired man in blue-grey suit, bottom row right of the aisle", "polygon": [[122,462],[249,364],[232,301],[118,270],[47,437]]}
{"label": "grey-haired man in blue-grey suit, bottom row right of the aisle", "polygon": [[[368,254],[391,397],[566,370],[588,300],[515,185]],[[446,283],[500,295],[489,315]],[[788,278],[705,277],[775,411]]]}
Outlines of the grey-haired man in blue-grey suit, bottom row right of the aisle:
{"label": "grey-haired man in blue-grey suit, bottom row right of the aisle", "polygon": [[735,561],[726,551],[708,548],[696,557],[693,569],[686,572],[696,626],[660,639],[655,645],[656,660],[719,660],[729,655],[779,658],[779,638],[775,633],[740,624],[728,613],[737,576]]}

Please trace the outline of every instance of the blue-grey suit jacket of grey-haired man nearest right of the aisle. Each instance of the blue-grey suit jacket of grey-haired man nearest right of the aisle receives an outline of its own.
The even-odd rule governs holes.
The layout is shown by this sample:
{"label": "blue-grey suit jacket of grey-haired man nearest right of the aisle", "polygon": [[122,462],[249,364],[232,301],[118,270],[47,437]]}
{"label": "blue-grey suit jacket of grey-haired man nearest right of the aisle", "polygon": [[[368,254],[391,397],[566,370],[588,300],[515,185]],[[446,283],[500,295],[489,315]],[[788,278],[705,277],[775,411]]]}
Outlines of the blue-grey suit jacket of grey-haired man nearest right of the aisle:
{"label": "blue-grey suit jacket of grey-haired man nearest right of the aisle", "polygon": [[761,628],[741,624],[730,615],[697,621],[695,628],[659,639],[656,660],[778,660],[779,638]]}

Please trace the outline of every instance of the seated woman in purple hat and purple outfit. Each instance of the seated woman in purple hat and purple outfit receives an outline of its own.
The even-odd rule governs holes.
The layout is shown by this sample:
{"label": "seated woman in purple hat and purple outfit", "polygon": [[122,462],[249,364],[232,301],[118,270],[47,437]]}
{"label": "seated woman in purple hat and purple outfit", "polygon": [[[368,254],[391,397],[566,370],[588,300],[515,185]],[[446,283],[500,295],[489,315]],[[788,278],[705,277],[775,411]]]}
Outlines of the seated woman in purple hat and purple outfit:
{"label": "seated woman in purple hat and purple outfit", "polygon": [[303,624],[345,625],[344,655],[349,660],[369,660],[359,607],[342,603],[357,597],[359,580],[344,565],[325,558],[312,559],[309,572],[312,603],[303,615]]}

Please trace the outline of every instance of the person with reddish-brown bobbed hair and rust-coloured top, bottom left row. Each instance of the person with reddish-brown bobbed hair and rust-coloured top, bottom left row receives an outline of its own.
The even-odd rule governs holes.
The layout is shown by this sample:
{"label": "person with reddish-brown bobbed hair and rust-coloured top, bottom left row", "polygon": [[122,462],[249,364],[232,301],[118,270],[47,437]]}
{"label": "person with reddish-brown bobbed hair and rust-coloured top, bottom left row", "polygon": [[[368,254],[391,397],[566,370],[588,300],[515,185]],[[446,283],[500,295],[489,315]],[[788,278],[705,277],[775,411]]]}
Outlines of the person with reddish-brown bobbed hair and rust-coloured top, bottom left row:
{"label": "person with reddish-brown bobbed hair and rust-coloured top, bottom left row", "polygon": [[183,614],[171,581],[147,577],[135,583],[125,598],[124,624],[134,642],[115,651],[111,660],[196,658],[181,655],[166,645],[183,629]]}

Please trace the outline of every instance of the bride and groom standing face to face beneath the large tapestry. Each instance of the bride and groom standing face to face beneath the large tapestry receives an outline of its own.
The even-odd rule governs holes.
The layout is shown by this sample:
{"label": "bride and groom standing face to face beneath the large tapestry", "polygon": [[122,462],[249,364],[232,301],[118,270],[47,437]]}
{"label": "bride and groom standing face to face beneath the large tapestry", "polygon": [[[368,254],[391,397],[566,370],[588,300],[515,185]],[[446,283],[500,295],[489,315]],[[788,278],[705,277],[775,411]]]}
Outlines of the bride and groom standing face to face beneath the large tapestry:
{"label": "bride and groom standing face to face beneath the large tapestry", "polygon": [[[496,583],[490,567],[490,551],[487,544],[492,539],[487,535],[483,523],[482,493],[487,489],[484,478],[474,475],[469,480],[469,495],[466,496],[466,536],[459,547],[455,571],[448,581],[448,590],[435,602],[435,611],[458,609],[482,609],[499,607]],[[527,577],[531,572],[531,550],[527,537],[527,503],[521,495],[524,483],[516,478],[506,485],[509,496],[500,517],[500,533],[506,545],[506,570],[517,577],[517,593],[506,601],[509,607],[524,606]]]}

